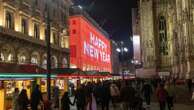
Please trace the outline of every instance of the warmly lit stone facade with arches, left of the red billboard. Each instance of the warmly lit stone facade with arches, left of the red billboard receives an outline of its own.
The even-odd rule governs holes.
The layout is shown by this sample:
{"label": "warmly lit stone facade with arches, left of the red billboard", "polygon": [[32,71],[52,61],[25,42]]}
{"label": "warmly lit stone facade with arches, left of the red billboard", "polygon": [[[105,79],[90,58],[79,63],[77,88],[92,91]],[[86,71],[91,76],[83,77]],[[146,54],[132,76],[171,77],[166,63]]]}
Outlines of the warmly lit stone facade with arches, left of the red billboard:
{"label": "warmly lit stone facade with arches, left of the red billboard", "polygon": [[[46,4],[49,0],[0,0],[0,62],[46,68]],[[51,0],[51,66],[68,67],[70,0]]]}

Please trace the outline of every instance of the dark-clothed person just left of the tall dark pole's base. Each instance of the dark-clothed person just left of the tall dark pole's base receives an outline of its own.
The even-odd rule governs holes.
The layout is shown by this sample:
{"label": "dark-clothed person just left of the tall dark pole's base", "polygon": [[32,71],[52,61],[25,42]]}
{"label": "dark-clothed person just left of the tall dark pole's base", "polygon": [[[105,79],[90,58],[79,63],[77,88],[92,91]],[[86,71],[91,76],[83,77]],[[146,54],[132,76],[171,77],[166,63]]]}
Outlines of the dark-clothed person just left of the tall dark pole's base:
{"label": "dark-clothed person just left of the tall dark pole's base", "polygon": [[42,93],[39,89],[39,85],[36,85],[31,94],[31,108],[32,110],[38,110],[38,106],[42,101]]}

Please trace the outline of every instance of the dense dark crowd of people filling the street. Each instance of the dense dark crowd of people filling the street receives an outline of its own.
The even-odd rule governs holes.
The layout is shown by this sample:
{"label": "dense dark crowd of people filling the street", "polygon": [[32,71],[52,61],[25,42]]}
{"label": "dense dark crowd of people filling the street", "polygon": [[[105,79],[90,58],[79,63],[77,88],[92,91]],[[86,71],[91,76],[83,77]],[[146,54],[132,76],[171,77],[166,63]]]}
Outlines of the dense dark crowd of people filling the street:
{"label": "dense dark crowd of people filling the street", "polygon": [[156,80],[87,82],[77,85],[73,101],[68,92],[60,98],[57,87],[53,89],[52,101],[48,100],[46,93],[41,93],[38,85],[34,88],[30,100],[25,89],[19,92],[16,88],[13,93],[13,110],[39,110],[40,105],[44,110],[70,110],[70,105],[76,105],[77,110],[97,110],[97,107],[110,110],[110,105],[114,110],[145,110],[150,107],[153,95],[158,99],[160,110],[166,110],[166,107],[173,110],[176,96],[173,81]]}

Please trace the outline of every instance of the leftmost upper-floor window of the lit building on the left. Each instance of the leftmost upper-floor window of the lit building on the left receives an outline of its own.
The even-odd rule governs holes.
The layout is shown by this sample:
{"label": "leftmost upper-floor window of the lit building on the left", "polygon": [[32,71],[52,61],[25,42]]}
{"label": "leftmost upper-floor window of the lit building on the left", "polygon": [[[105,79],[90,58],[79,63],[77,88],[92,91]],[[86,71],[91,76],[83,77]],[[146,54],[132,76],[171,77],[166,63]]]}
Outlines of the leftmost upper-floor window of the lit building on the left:
{"label": "leftmost upper-floor window of the lit building on the left", "polygon": [[6,18],[5,18],[5,26],[8,29],[14,29],[14,17],[13,14],[10,12],[6,12]]}

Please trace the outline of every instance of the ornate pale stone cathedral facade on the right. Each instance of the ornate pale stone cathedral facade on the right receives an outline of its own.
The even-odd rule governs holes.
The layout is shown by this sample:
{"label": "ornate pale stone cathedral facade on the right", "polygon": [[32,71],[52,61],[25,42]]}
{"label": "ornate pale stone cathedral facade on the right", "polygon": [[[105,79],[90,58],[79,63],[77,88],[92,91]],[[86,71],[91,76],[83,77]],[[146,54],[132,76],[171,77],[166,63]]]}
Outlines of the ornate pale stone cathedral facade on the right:
{"label": "ornate pale stone cathedral facade on the right", "polygon": [[194,0],[140,0],[144,73],[194,76]]}

